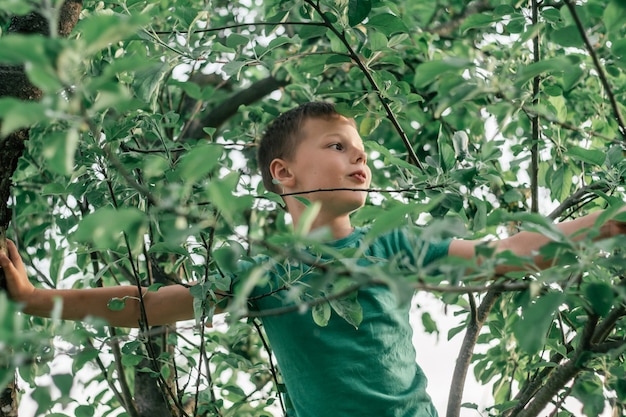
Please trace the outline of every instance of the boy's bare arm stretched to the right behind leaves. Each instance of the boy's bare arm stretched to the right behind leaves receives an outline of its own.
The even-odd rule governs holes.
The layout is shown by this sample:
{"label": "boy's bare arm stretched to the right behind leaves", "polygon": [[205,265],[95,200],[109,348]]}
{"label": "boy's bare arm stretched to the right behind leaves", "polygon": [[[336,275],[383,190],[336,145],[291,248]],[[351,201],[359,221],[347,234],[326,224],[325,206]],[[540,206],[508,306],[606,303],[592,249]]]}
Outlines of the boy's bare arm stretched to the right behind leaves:
{"label": "boy's bare arm stretched to the right behind leaves", "polygon": [[[556,225],[565,236],[574,236],[574,240],[581,240],[585,237],[584,231],[590,230],[602,212],[595,212],[577,219],[559,223]],[[579,233],[582,232],[582,233]],[[612,236],[626,234],[626,222],[609,219],[600,226],[600,233],[594,240],[606,239]],[[551,259],[545,259],[537,253],[542,246],[551,242],[551,239],[541,233],[535,232],[519,232],[511,237],[496,240],[490,243],[495,248],[496,253],[511,251],[518,256],[534,257],[534,267],[540,269],[547,268],[551,265]],[[448,254],[458,256],[465,259],[472,259],[476,256],[476,246],[484,244],[480,240],[453,240],[450,244]],[[519,270],[519,267],[500,266],[496,273],[503,274],[513,270]]]}

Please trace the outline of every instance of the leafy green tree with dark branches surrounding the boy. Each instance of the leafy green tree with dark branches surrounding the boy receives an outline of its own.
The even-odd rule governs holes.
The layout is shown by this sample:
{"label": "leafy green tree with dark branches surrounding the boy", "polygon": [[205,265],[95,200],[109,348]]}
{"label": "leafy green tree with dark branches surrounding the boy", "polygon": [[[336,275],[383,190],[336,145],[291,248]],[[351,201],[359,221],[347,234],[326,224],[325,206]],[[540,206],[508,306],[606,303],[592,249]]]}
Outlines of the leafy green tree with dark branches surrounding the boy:
{"label": "leafy green tree with dark branches surrounding the boy", "polygon": [[[280,414],[280,373],[245,291],[225,332],[202,325],[212,319],[203,300],[228,288],[237,259],[284,259],[297,255],[281,248],[318,244],[272,210],[279,199],[259,185],[254,153],[281,111],[330,99],[356,119],[376,167],[356,223],[374,221],[377,233],[411,221],[434,237],[519,228],[555,237],[545,251],[559,261],[532,275],[495,279],[483,265],[464,276],[454,260],[400,282],[393,266],[329,272],[344,289],[376,280],[461,308],[448,335],[465,339],[447,415],[477,407],[463,403],[469,369],[493,383],[489,414],[569,415],[573,397],[585,415],[623,415],[623,241],[577,245],[542,216],[622,204],[622,2],[180,3],[84,1],[73,27],[63,2],[0,2],[0,62],[23,68],[41,93],[0,99],[2,158],[11,160],[0,196],[33,276],[47,286],[202,282],[196,326],[143,322],[139,332],[23,317],[0,296],[3,386],[16,369],[34,385],[67,349],[62,341],[72,371],[52,375],[54,399],[34,387],[40,414],[53,403],[85,416],[95,403],[98,415]],[[27,16],[43,18],[50,36],[6,30]],[[59,27],[73,30],[59,37]],[[8,78],[0,84],[15,91]],[[328,314],[358,322],[354,302],[333,302],[341,294],[303,294],[302,308],[320,325]],[[472,354],[477,346],[484,353]],[[85,383],[96,386],[94,401],[81,403],[70,389],[86,364],[100,371]]]}

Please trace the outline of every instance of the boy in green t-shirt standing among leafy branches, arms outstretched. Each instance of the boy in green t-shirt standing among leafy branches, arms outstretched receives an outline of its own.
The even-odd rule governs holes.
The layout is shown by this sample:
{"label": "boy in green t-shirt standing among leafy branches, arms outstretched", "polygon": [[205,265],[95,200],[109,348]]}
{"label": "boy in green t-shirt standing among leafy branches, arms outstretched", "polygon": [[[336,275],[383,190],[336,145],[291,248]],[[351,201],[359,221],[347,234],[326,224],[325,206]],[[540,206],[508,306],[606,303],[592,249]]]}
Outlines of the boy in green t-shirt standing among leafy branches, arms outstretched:
{"label": "boy in green t-shirt standing among leafy branches, arms outstretched", "polygon": [[[283,194],[295,226],[306,209],[295,196],[304,196],[320,205],[312,230],[327,228],[334,239],[330,246],[336,249],[360,248],[366,230],[353,228],[350,214],[365,203],[371,172],[353,120],[336,113],[328,103],[307,103],[286,112],[265,133],[259,146],[259,165],[265,187]],[[320,191],[331,189],[333,191]],[[565,235],[575,234],[593,227],[599,214],[562,223],[558,228]],[[600,227],[599,238],[625,231],[624,223],[609,220]],[[510,250],[519,256],[534,257],[536,266],[542,267],[547,266],[549,260],[535,254],[548,242],[549,239],[540,234],[521,232],[496,241],[492,246],[496,252]],[[366,267],[394,259],[419,266],[446,255],[471,259],[480,243],[424,242],[411,229],[399,229],[374,240],[356,264]],[[311,272],[315,268],[302,262],[295,264],[290,267],[298,269],[302,279],[293,285],[308,285],[307,276],[314,277]],[[28,314],[49,315],[54,298],[61,297],[65,319],[80,320],[93,315],[108,320],[113,326],[137,326],[140,320],[139,305],[131,299],[121,311],[107,308],[111,298],[136,298],[136,287],[36,289],[29,282],[11,242],[9,257],[0,255],[0,266],[5,271],[11,297],[23,303],[24,312]],[[496,272],[509,269],[513,268],[501,266]],[[252,308],[261,311],[290,303],[286,294],[290,288],[283,279],[287,271],[278,264],[268,270],[269,283],[256,288],[250,297],[254,300]],[[268,293],[272,295],[263,296]],[[436,416],[426,393],[426,378],[415,363],[408,321],[410,303],[397,300],[389,288],[382,285],[359,289],[358,300],[363,309],[358,328],[336,316],[320,327],[310,313],[297,311],[263,319],[294,415]],[[146,292],[143,301],[150,325],[193,318],[193,297],[183,286]]]}

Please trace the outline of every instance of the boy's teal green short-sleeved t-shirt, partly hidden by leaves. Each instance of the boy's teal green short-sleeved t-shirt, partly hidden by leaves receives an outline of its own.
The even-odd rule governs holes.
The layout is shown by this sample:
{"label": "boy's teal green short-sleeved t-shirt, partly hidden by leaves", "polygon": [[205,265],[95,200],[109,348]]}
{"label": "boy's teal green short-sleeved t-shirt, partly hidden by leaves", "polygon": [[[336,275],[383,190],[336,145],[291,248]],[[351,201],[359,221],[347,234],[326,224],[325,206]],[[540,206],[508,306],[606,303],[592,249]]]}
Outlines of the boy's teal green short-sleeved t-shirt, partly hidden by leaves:
{"label": "boy's teal green short-sleeved t-shirt, partly hidden by leaves", "polygon": [[[447,255],[449,241],[426,244],[410,230],[398,229],[377,238],[357,265],[390,259],[426,265]],[[331,246],[358,248],[366,233],[367,229],[357,228]],[[284,266],[273,268],[269,284],[252,294],[253,309],[263,311],[291,303],[286,300],[287,290],[276,291],[283,285],[281,275],[285,273]],[[271,295],[259,298],[268,293]],[[399,303],[388,286],[361,288],[358,301],[363,320],[358,328],[334,312],[324,327],[313,321],[310,310],[264,317],[292,415],[436,417],[426,393],[426,377],[415,361],[408,300],[410,297],[405,297]]]}

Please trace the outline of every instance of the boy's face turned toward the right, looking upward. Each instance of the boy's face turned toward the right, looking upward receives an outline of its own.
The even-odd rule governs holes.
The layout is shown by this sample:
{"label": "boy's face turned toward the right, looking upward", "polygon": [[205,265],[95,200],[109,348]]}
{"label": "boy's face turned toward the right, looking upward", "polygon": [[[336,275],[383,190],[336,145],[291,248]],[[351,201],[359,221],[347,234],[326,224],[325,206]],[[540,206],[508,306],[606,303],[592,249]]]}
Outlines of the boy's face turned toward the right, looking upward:
{"label": "boy's face turned toward the right, looking upward", "polygon": [[[293,158],[287,162],[293,174],[290,189],[367,189],[372,173],[367,154],[354,122],[337,116],[330,119],[307,119],[301,130],[302,139]],[[303,195],[320,201],[322,210],[330,215],[343,215],[365,203],[366,192],[338,190]]]}

